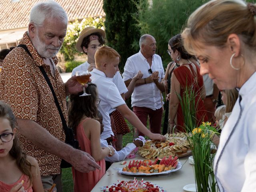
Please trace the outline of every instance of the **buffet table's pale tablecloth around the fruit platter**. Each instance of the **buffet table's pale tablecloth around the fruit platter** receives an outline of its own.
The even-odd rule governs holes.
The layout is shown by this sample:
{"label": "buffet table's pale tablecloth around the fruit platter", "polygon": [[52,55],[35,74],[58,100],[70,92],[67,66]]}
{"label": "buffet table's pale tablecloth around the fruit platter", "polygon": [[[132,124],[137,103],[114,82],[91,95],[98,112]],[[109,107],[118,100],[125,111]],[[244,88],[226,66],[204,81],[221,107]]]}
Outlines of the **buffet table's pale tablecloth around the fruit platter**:
{"label": "buffet table's pale tablecloth around the fruit platter", "polygon": [[[158,186],[161,186],[166,192],[185,192],[183,187],[187,184],[195,183],[193,166],[188,163],[188,157],[185,156],[179,158],[182,164],[182,169],[176,172],[172,172],[168,175],[157,175],[157,176],[136,176],[138,180],[142,178],[144,181],[152,182]],[[120,162],[113,163],[110,168],[106,171],[106,174],[101,178],[101,180],[96,184],[91,192],[100,192],[102,186],[109,186],[113,183],[117,183],[117,180],[133,180],[134,176],[120,175],[117,170],[113,168],[123,168],[128,165],[130,160],[145,160],[144,158],[136,155],[134,159],[126,159],[127,163],[121,165]]]}

